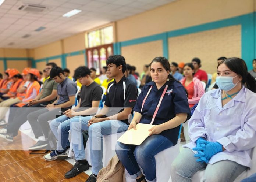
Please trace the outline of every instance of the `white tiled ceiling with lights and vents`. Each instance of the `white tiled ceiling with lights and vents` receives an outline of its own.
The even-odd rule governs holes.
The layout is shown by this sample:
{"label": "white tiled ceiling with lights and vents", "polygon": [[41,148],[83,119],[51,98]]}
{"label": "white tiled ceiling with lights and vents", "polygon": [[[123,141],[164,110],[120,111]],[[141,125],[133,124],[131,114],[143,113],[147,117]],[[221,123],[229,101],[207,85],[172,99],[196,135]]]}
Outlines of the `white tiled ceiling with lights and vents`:
{"label": "white tiled ceiling with lights and vents", "polygon": [[[174,0],[5,0],[0,6],[0,47],[35,48],[93,29]],[[44,12],[18,10],[26,3],[44,5]],[[62,17],[77,8],[81,13]],[[36,32],[39,27],[46,27]],[[22,36],[29,34],[28,38]],[[13,45],[8,45],[13,42]]]}

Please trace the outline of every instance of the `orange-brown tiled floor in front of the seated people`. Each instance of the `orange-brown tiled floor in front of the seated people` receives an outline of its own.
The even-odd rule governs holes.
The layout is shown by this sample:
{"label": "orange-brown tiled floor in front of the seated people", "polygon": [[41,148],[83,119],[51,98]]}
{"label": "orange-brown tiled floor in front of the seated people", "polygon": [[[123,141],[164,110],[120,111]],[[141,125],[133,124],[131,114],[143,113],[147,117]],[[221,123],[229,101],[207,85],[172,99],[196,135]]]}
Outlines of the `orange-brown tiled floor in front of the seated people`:
{"label": "orange-brown tiled floor in front of the seated people", "polygon": [[[65,179],[64,174],[72,168],[65,160],[45,161],[43,155],[31,155],[30,151],[11,150],[22,148],[32,140],[19,133],[14,142],[0,142],[0,182],[84,182],[88,175],[81,173],[74,178]],[[35,141],[34,141],[35,143]]]}

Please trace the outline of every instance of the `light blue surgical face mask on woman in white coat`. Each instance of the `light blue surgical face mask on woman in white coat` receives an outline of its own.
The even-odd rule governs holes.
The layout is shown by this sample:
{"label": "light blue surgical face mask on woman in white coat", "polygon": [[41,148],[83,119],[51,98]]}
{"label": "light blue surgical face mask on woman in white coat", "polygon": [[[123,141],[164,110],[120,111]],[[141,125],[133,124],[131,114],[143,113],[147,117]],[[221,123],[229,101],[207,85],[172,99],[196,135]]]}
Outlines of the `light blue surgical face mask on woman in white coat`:
{"label": "light blue surgical face mask on woman in white coat", "polygon": [[[237,75],[238,76],[238,75]],[[235,77],[237,77],[235,76]],[[216,77],[216,84],[218,87],[224,91],[230,91],[232,88],[234,88],[236,84],[233,83],[233,78],[235,77]]]}

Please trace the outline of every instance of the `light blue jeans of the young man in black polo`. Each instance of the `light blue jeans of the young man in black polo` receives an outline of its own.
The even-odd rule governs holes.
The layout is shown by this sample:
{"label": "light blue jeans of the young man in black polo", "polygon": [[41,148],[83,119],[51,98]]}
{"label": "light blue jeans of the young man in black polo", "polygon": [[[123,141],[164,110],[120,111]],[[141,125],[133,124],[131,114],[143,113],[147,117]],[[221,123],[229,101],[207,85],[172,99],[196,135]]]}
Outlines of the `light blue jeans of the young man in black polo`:
{"label": "light blue jeans of the young man in black polo", "polygon": [[103,135],[120,133],[128,129],[128,125],[118,120],[107,120],[94,123],[88,127],[88,121],[92,116],[74,118],[70,121],[71,140],[76,160],[85,159],[82,130],[89,130],[90,160],[92,173],[98,174],[103,167]]}

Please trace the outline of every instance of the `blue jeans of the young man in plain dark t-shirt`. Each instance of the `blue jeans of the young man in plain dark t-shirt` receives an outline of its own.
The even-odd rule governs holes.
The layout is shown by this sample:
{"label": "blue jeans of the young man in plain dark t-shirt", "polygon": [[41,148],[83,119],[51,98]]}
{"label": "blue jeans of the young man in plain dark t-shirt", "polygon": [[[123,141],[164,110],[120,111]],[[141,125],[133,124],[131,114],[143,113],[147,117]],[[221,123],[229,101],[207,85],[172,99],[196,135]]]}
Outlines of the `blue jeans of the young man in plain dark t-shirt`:
{"label": "blue jeans of the young man in plain dark t-shirt", "polygon": [[[74,118],[79,118],[80,116],[75,116]],[[64,152],[64,150],[70,146],[68,141],[68,131],[70,130],[70,120],[65,115],[62,115],[56,119],[53,119],[50,123],[50,128],[55,137],[57,138],[57,150],[59,152]]]}

